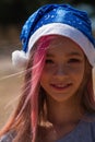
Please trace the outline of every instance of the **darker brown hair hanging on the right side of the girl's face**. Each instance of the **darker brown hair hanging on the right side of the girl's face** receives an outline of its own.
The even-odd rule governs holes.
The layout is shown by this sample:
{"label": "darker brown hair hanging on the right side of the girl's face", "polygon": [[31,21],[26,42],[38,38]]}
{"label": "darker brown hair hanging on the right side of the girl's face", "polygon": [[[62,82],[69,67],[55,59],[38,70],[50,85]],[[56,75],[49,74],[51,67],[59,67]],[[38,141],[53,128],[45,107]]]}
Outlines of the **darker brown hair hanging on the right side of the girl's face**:
{"label": "darker brown hair hanging on the right side of the girl's face", "polygon": [[81,105],[88,113],[95,113],[95,94],[93,84],[93,69],[85,57],[85,71],[82,83]]}

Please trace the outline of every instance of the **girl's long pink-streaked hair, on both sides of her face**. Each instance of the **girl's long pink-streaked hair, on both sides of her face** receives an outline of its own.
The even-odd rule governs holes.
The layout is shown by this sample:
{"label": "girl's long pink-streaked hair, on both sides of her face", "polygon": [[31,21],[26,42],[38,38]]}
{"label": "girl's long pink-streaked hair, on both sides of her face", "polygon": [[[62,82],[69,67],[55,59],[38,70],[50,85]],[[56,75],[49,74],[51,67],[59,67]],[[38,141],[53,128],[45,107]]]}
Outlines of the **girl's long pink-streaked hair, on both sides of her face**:
{"label": "girl's long pink-streaked hair, on both sides of her face", "polygon": [[[38,125],[45,121],[46,117],[46,95],[40,86],[41,72],[45,64],[47,48],[56,35],[41,37],[32,48],[31,57],[26,67],[23,93],[19,105],[0,134],[10,130],[15,130],[13,142],[36,142]],[[94,92],[92,82],[92,67],[87,59],[85,63],[85,75],[82,84],[83,93],[81,104],[85,110],[95,113]]]}

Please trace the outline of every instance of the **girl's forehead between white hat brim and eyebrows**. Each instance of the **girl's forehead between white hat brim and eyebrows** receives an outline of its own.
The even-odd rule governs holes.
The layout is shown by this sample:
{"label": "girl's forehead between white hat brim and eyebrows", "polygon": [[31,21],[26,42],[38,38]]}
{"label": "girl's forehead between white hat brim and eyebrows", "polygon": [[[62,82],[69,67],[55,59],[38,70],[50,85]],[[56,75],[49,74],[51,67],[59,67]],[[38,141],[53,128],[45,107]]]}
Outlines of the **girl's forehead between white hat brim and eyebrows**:
{"label": "girl's forehead between white hat brim and eyebrows", "polygon": [[48,55],[81,55],[84,56],[81,47],[68,37],[56,36],[48,46]]}

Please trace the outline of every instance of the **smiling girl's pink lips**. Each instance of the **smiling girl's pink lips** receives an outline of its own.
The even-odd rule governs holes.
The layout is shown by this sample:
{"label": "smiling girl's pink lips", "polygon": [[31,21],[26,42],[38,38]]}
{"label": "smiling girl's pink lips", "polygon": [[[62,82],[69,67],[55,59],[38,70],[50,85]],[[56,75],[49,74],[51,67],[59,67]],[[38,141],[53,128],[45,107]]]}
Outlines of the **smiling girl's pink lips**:
{"label": "smiling girl's pink lips", "polygon": [[68,90],[72,84],[71,83],[68,83],[68,84],[50,84],[50,86],[55,90],[58,90],[58,91],[66,91]]}

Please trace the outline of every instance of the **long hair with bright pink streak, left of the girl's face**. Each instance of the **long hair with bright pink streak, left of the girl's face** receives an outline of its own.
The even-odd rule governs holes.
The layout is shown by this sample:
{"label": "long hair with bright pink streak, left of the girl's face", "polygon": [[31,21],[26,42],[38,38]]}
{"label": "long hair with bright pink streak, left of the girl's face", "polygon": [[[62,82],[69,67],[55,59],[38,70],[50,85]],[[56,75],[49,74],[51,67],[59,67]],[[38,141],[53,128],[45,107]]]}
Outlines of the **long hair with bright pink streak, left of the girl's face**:
{"label": "long hair with bright pink streak, left of the girl's face", "polygon": [[51,37],[41,37],[32,48],[29,60],[25,71],[23,93],[19,105],[10,120],[0,131],[0,135],[10,130],[16,130],[14,142],[34,142],[38,121],[39,80],[45,63],[47,47]]}

